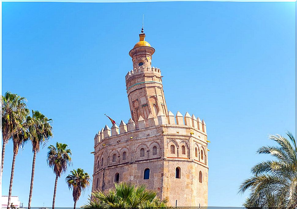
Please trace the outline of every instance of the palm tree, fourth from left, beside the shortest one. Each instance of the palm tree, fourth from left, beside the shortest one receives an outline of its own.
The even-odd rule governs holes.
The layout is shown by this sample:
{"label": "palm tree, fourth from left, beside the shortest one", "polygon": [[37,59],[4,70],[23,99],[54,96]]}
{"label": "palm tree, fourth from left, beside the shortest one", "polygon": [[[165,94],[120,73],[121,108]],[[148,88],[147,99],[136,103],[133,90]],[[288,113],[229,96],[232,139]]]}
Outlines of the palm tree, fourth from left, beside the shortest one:
{"label": "palm tree, fourth from left, beside the shortest one", "polygon": [[54,169],[54,173],[56,175],[52,209],[55,208],[58,177],[60,177],[62,173],[66,172],[67,166],[71,164],[71,150],[67,149],[67,147],[67,144],[58,142],[56,143],[56,146],[50,145],[48,147],[47,163],[49,167]]}

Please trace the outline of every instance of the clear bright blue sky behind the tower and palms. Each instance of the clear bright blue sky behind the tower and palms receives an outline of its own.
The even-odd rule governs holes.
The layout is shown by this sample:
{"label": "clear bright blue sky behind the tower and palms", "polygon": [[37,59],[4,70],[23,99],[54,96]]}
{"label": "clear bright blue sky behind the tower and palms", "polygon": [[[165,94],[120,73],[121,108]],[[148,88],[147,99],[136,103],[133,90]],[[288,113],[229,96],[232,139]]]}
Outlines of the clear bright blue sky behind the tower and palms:
{"label": "clear bright blue sky behind the tower and palms", "polygon": [[[93,138],[110,121],[128,121],[125,75],[142,14],[156,49],[167,107],[204,118],[209,144],[209,206],[241,206],[238,195],[268,134],[295,135],[295,3],[2,3],[2,94],[28,99],[52,118],[55,142],[73,166],[58,180],[56,207],[72,207],[65,177],[93,173]],[[46,146],[46,147],[47,147]],[[12,143],[6,146],[7,195]],[[36,159],[32,206],[51,207],[55,175],[46,147]],[[13,195],[28,206],[32,145],[19,151]],[[88,189],[77,205],[86,203]]]}

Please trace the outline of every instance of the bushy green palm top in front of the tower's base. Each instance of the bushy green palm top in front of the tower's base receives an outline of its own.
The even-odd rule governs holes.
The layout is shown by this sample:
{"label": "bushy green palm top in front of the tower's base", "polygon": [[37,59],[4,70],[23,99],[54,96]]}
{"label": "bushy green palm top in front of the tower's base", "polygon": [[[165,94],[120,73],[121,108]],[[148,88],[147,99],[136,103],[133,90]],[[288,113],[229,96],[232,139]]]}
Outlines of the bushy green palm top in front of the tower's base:
{"label": "bushy green palm top in front of the tower's base", "polygon": [[156,192],[146,190],[144,185],[135,186],[126,182],[115,183],[115,188],[106,193],[94,191],[88,201],[81,208],[171,208],[167,206],[167,199],[161,201]]}

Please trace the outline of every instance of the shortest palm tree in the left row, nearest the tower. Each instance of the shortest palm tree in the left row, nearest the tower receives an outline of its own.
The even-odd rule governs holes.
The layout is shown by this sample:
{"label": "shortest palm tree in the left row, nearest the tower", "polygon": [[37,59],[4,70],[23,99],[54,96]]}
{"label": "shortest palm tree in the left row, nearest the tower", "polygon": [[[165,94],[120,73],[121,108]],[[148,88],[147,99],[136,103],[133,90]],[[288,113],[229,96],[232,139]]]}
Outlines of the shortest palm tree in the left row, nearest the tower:
{"label": "shortest palm tree in the left row, nearest the tower", "polygon": [[69,189],[72,189],[72,196],[74,201],[74,207],[76,207],[76,202],[81,196],[81,192],[86,189],[87,186],[90,185],[90,176],[88,173],[84,173],[84,170],[81,168],[77,168],[77,170],[71,171],[66,177],[66,182],[68,184]]}

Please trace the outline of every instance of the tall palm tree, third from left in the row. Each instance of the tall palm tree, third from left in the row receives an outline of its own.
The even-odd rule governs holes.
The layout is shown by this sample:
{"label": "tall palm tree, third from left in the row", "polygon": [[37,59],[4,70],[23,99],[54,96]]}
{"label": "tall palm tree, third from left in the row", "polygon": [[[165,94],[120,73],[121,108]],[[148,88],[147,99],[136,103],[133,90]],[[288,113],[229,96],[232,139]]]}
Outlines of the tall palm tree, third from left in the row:
{"label": "tall palm tree, third from left in the row", "polygon": [[32,151],[33,151],[33,162],[32,162],[32,174],[31,174],[31,186],[29,193],[29,204],[28,209],[31,208],[32,200],[32,191],[33,191],[33,179],[35,172],[35,160],[36,153],[40,150],[40,145],[43,145],[47,142],[48,138],[53,135],[51,127],[51,119],[45,117],[39,111],[32,110],[32,117],[27,117],[27,126],[28,126],[28,137],[32,142]]}

